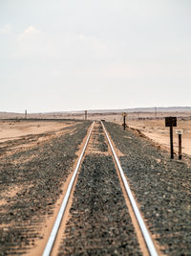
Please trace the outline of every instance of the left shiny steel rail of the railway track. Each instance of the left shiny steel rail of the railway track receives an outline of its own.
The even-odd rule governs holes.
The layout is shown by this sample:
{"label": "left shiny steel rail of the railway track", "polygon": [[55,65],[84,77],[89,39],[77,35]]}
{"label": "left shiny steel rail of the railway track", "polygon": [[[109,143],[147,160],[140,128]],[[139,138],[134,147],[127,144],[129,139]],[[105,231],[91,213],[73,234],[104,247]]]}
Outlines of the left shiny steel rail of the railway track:
{"label": "left shiny steel rail of the railway track", "polygon": [[74,185],[74,179],[75,179],[75,176],[76,176],[77,171],[78,171],[78,169],[79,169],[79,166],[80,166],[82,157],[83,157],[83,155],[84,155],[84,152],[85,152],[85,150],[86,150],[86,147],[87,147],[87,145],[88,145],[88,142],[89,142],[90,136],[91,136],[91,134],[92,134],[92,130],[93,130],[93,128],[94,128],[94,125],[95,125],[95,122],[94,122],[93,125],[92,125],[92,128],[91,128],[91,130],[90,130],[90,132],[89,132],[88,138],[87,138],[86,143],[85,143],[85,146],[84,146],[84,148],[83,148],[83,151],[81,152],[81,154],[80,154],[80,156],[79,156],[79,159],[78,159],[78,161],[77,161],[77,165],[76,165],[75,170],[74,170],[74,175],[73,175],[72,178],[71,178],[71,181],[70,181],[70,184],[69,184],[69,186],[68,186],[66,195],[65,195],[65,197],[64,197],[64,199],[63,199],[63,201],[62,201],[62,204],[61,204],[61,207],[60,207],[60,209],[59,209],[58,215],[57,215],[56,220],[55,220],[55,222],[54,222],[54,224],[53,224],[53,230],[52,230],[52,232],[51,232],[51,235],[50,235],[50,237],[49,237],[49,240],[48,240],[48,242],[47,242],[47,244],[46,244],[46,247],[45,247],[45,249],[44,249],[44,251],[43,251],[42,256],[49,256],[49,255],[51,254],[51,252],[52,252],[53,244],[54,244],[54,241],[55,241],[55,238],[56,238],[56,235],[57,235],[57,232],[58,232],[60,223],[61,223],[61,221],[62,221],[62,217],[63,217],[63,215],[64,215],[64,212],[65,212],[65,209],[66,209],[66,206],[67,206],[68,199],[70,198],[70,194],[71,194],[71,191],[72,191],[72,188],[73,188],[73,185]]}

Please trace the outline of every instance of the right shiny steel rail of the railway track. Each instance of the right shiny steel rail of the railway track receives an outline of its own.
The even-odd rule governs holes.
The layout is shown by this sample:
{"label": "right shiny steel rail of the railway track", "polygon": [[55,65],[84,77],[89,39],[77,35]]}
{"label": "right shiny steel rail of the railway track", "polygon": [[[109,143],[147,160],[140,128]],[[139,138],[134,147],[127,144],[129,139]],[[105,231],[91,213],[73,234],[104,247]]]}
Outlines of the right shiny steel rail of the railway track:
{"label": "right shiny steel rail of the railway track", "polygon": [[106,128],[104,127],[104,125],[103,125],[102,122],[101,122],[101,125],[102,125],[102,127],[103,127],[103,129],[104,129],[104,131],[105,131],[107,140],[108,140],[109,145],[110,145],[110,147],[111,147],[111,150],[112,150],[112,152],[113,152],[115,161],[116,161],[116,163],[117,163],[117,168],[118,168],[118,170],[119,170],[119,173],[120,173],[120,176],[121,176],[121,178],[122,178],[122,181],[123,181],[125,190],[126,190],[126,192],[127,192],[128,198],[130,199],[130,202],[131,202],[131,205],[132,205],[132,207],[133,207],[134,213],[135,213],[136,218],[137,218],[137,220],[138,220],[138,225],[139,225],[139,228],[140,228],[140,230],[141,230],[142,236],[143,236],[143,238],[144,238],[145,244],[147,245],[148,251],[149,251],[149,253],[150,253],[151,256],[158,256],[159,254],[158,254],[158,252],[157,252],[157,250],[156,250],[156,248],[155,248],[155,245],[153,244],[153,241],[152,241],[152,239],[151,239],[151,237],[150,237],[150,235],[149,235],[149,232],[148,232],[148,230],[147,230],[147,228],[146,228],[146,225],[145,225],[145,223],[144,223],[144,221],[143,221],[143,219],[142,219],[142,217],[141,217],[141,215],[140,215],[140,212],[139,212],[139,210],[138,210],[138,205],[137,205],[136,200],[135,200],[135,198],[133,197],[133,194],[132,194],[132,192],[131,192],[131,190],[130,190],[130,187],[129,187],[129,185],[128,185],[127,179],[126,179],[126,177],[125,177],[125,175],[124,175],[124,172],[123,172],[123,170],[122,170],[122,168],[121,168],[121,165],[120,165],[119,160],[118,160],[118,158],[117,158],[117,154],[116,154],[116,152],[115,152],[115,150],[114,150],[114,147],[113,147],[113,145],[112,145],[112,143],[111,143],[111,141],[110,141],[110,138],[109,138],[109,136],[108,136],[108,133],[107,133],[107,131],[106,131]]}

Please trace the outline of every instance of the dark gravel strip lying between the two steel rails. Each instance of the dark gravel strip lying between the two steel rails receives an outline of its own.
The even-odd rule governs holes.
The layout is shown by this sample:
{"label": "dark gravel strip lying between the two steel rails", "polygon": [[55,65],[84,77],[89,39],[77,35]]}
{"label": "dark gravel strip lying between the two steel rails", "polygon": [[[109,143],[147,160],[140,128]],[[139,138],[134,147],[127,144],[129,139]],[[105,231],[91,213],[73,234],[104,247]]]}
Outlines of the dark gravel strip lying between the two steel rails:
{"label": "dark gravel strip lying between the two steel rails", "polygon": [[74,189],[59,255],[141,255],[138,240],[99,125]]}

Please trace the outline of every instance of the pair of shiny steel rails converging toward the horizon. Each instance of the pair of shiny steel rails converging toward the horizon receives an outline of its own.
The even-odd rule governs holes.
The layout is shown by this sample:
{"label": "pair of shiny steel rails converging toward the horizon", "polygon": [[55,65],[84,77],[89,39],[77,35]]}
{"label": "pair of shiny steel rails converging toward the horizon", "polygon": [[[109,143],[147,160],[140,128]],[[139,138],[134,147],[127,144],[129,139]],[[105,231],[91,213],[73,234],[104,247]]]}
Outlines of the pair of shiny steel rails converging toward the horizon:
{"label": "pair of shiny steel rails converging toward the horizon", "polygon": [[[52,230],[52,232],[51,232],[51,235],[50,235],[50,237],[49,237],[49,240],[48,240],[48,242],[47,242],[47,244],[46,244],[46,247],[45,247],[45,249],[44,249],[44,252],[43,252],[42,256],[49,256],[49,255],[51,255],[51,252],[52,252],[52,249],[53,249],[53,244],[54,244],[54,241],[55,241],[55,239],[56,239],[56,235],[57,235],[57,233],[58,233],[58,229],[59,229],[60,223],[61,223],[61,221],[62,221],[62,218],[63,218],[63,215],[64,215],[64,213],[65,213],[65,209],[66,209],[68,200],[69,200],[69,198],[70,198],[70,195],[71,195],[71,192],[72,192],[72,189],[73,189],[73,186],[74,186],[74,180],[75,180],[75,177],[76,177],[77,172],[78,172],[78,170],[79,170],[79,167],[80,167],[80,165],[81,165],[82,158],[83,158],[83,155],[84,155],[84,153],[85,153],[85,151],[86,151],[87,145],[88,145],[88,143],[89,143],[89,140],[90,140],[90,137],[91,137],[91,134],[92,134],[94,125],[95,125],[95,122],[93,123],[92,128],[90,129],[90,132],[89,132],[89,134],[88,134],[88,137],[87,137],[85,146],[84,146],[84,148],[83,148],[83,151],[81,152],[81,154],[80,154],[80,156],[79,156],[79,159],[78,159],[78,161],[77,161],[77,165],[76,165],[76,168],[75,168],[75,170],[74,170],[74,175],[73,175],[72,178],[71,178],[71,181],[70,181],[70,184],[69,184],[69,186],[68,186],[68,189],[67,189],[65,198],[64,198],[63,201],[62,201],[62,204],[61,204],[61,207],[60,207],[60,209],[59,209],[57,218],[56,218],[56,220],[55,220],[55,222],[54,222],[54,225],[53,225],[53,230]],[[151,237],[150,237],[150,234],[149,234],[149,232],[148,232],[148,230],[147,230],[147,227],[146,227],[146,225],[145,225],[145,223],[144,223],[144,221],[143,221],[143,219],[142,219],[142,217],[141,217],[141,215],[140,215],[140,212],[139,212],[139,210],[138,210],[138,205],[137,205],[136,199],[133,197],[133,194],[132,194],[131,189],[130,189],[130,187],[129,187],[129,185],[128,185],[127,179],[126,179],[126,177],[125,177],[125,175],[124,175],[124,172],[123,172],[123,170],[122,170],[122,168],[121,168],[121,165],[120,165],[120,163],[119,163],[119,160],[118,160],[118,158],[117,158],[117,153],[116,153],[116,151],[114,150],[114,147],[113,147],[112,142],[111,142],[111,140],[110,140],[110,137],[109,137],[109,135],[108,135],[108,132],[107,132],[107,130],[106,130],[106,128],[104,127],[104,125],[103,125],[102,122],[101,122],[101,125],[102,125],[102,128],[103,128],[104,132],[105,132],[106,138],[107,138],[107,140],[108,140],[108,144],[109,144],[109,146],[110,146],[110,148],[111,148],[111,151],[112,151],[112,153],[113,153],[115,162],[116,162],[116,164],[117,164],[117,169],[118,169],[119,174],[120,174],[120,177],[121,177],[121,179],[122,179],[122,182],[123,182],[125,191],[126,191],[126,193],[127,193],[127,196],[128,196],[128,198],[129,198],[129,200],[130,200],[130,202],[131,202],[131,205],[132,205],[132,208],[133,208],[133,210],[134,210],[134,214],[135,214],[136,219],[137,219],[137,221],[138,221],[139,229],[140,229],[140,231],[141,231],[142,237],[144,238],[144,241],[145,241],[145,244],[146,244],[146,246],[147,246],[148,252],[149,252],[149,254],[150,254],[151,256],[158,256],[159,254],[158,254],[158,252],[157,252],[157,249],[156,249],[155,245],[153,244],[153,241],[152,241],[152,239],[151,239]]]}

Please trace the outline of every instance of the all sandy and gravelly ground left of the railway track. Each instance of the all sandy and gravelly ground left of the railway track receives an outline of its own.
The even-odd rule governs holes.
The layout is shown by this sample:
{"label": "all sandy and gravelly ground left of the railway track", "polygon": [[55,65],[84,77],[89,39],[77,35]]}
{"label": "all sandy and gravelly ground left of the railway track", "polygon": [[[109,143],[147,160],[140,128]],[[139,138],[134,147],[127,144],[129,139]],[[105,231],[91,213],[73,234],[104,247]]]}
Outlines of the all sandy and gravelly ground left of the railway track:
{"label": "all sandy and gravelly ground left of the railway track", "polygon": [[50,224],[56,216],[54,205],[58,207],[61,202],[58,198],[66,190],[65,183],[90,123],[67,120],[0,124],[4,140],[0,142],[0,254],[21,255],[33,250],[37,239],[42,241],[47,226],[51,231],[53,226],[46,221]]}

